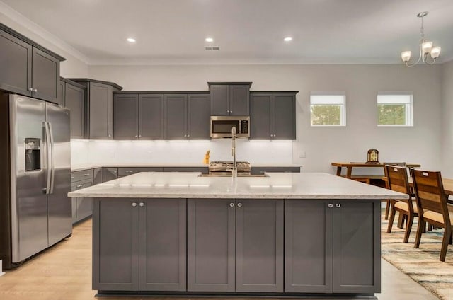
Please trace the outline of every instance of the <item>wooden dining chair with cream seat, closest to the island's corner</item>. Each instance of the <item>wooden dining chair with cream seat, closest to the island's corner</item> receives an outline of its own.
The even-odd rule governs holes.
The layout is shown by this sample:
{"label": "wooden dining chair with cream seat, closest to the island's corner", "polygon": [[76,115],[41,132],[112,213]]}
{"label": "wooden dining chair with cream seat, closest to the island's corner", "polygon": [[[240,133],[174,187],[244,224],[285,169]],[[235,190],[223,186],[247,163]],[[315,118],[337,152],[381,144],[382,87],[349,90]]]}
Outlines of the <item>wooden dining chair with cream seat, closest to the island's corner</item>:
{"label": "wooden dining chair with cream seat, closest to the island's corner", "polygon": [[[394,224],[395,214],[399,212],[407,217],[406,232],[404,233],[403,242],[407,243],[411,235],[413,218],[418,216],[418,209],[416,202],[411,197],[411,186],[409,185],[408,173],[406,166],[391,166],[386,165],[384,172],[387,178],[389,189],[396,192],[403,192],[409,196],[408,200],[390,200],[391,209],[389,217],[389,226],[387,233],[391,233],[391,228]],[[414,199],[415,200],[415,199]]]}

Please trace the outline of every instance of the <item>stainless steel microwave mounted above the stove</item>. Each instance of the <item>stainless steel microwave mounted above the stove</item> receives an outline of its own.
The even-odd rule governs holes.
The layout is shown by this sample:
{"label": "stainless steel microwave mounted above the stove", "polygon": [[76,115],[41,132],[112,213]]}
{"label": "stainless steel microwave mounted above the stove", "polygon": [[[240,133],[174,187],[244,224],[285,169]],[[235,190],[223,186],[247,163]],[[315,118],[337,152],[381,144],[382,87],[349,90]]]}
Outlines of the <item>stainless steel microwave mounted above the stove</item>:
{"label": "stainless steel microwave mounted above the stove", "polygon": [[231,129],[236,127],[236,137],[250,137],[250,117],[212,116],[211,138],[231,137]]}

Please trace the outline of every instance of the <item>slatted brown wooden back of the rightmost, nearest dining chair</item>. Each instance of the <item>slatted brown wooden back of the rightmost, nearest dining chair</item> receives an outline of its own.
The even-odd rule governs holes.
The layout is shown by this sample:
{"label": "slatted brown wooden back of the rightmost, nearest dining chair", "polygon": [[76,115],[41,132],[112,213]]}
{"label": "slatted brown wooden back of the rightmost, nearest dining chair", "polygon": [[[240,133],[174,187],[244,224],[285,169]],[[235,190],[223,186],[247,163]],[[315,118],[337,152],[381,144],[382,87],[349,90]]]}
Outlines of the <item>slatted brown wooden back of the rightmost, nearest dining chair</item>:
{"label": "slatted brown wooden back of the rightmost, nearest dining chair", "polygon": [[444,216],[444,220],[449,221],[447,198],[440,172],[412,170],[412,178],[420,212],[437,212]]}

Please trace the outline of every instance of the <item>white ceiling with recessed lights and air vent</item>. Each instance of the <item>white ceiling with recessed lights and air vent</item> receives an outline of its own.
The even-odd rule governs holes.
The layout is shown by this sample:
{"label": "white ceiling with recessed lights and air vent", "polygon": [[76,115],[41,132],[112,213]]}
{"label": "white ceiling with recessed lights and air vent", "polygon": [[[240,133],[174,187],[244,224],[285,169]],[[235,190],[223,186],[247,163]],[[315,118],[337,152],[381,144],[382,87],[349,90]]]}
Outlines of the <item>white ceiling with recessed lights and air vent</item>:
{"label": "white ceiling with recessed lights and air vent", "polygon": [[398,64],[418,55],[420,11],[440,62],[453,59],[453,0],[1,1],[90,64]]}

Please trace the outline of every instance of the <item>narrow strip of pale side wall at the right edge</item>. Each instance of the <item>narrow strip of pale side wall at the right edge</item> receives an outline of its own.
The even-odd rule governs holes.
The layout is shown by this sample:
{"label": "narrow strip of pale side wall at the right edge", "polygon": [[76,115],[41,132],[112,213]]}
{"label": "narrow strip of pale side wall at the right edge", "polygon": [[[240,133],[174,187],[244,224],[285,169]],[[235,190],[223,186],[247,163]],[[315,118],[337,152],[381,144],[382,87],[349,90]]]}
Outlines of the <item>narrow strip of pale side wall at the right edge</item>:
{"label": "narrow strip of pale side wall at the right edge", "polygon": [[442,65],[442,176],[453,178],[453,61]]}

